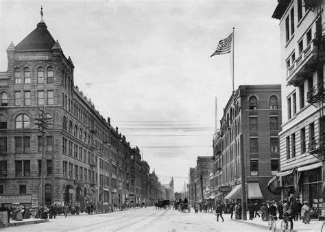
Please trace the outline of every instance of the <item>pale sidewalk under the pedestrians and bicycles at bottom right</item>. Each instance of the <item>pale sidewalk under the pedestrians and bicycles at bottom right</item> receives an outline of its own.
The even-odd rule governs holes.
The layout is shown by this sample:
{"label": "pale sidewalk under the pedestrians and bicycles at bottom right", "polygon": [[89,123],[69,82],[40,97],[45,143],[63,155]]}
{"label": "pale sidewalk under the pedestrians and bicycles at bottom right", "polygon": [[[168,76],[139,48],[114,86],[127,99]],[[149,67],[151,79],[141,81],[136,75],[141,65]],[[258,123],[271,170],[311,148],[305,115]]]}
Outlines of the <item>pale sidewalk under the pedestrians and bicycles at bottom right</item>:
{"label": "pale sidewalk under the pedestrians and bicycles at bottom right", "polygon": [[[227,215],[227,214],[226,214]],[[261,220],[261,218],[254,218],[254,220],[249,220],[250,218],[250,214],[247,214],[247,218],[248,220],[236,220],[236,219],[232,219],[234,220],[235,222],[240,222],[240,223],[244,223],[244,224],[252,224],[256,227],[261,227],[263,229],[268,229],[267,228],[267,221],[263,221]],[[281,222],[282,220],[278,219],[276,221],[276,231],[281,231],[280,228],[281,228]],[[322,231],[322,227],[323,227],[323,223],[324,221],[319,221],[319,220],[315,220],[315,219],[312,219],[311,222],[309,222],[309,224],[304,224],[302,223],[302,220],[298,220],[297,222],[296,221],[293,221],[293,231],[308,231],[308,232],[320,232]],[[324,228],[324,231],[325,231],[325,228]]]}

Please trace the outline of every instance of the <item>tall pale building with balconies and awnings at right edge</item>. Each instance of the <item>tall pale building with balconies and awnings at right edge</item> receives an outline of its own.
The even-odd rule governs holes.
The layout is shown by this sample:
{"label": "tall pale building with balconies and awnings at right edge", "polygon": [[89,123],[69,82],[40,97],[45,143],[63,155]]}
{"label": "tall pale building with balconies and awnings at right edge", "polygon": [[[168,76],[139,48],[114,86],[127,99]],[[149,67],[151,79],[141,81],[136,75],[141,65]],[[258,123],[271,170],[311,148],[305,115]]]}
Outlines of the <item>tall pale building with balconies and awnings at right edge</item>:
{"label": "tall pale building with balconies and awnings at right edge", "polygon": [[308,201],[325,216],[324,1],[279,0],[282,131],[280,170],[269,188],[285,200]]}

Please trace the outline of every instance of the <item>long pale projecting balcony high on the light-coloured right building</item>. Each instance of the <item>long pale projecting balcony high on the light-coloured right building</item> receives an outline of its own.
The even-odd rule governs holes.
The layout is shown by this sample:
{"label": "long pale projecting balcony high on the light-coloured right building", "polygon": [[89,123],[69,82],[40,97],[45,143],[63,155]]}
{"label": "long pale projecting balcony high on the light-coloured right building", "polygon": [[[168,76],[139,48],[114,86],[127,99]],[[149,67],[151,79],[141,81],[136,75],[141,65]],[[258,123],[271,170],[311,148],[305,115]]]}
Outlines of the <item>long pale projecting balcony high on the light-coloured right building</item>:
{"label": "long pale projecting balcony high on the light-coloured right building", "polygon": [[315,42],[311,42],[300,56],[287,69],[287,83],[289,86],[299,86],[300,82],[315,72],[315,66],[319,62],[317,55],[317,46]]}

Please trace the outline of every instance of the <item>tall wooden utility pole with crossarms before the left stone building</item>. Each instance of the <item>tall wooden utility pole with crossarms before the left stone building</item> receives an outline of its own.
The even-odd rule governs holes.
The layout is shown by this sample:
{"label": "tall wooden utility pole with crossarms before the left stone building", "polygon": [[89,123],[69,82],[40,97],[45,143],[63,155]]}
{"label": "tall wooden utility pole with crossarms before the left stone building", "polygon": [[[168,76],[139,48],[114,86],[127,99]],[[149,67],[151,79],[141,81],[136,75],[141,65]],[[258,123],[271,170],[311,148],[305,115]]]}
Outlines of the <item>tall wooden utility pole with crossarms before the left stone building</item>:
{"label": "tall wooden utility pole with crossarms before the left stone building", "polygon": [[[42,161],[41,161],[41,175],[40,175],[40,194],[41,194],[41,206],[45,205],[45,129],[49,129],[48,120],[52,118],[47,118],[47,112],[45,108],[38,109],[38,114],[35,118],[38,125],[38,131],[42,132]],[[53,171],[53,170],[52,170]]]}

